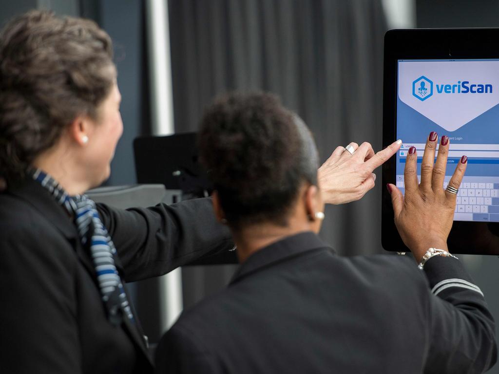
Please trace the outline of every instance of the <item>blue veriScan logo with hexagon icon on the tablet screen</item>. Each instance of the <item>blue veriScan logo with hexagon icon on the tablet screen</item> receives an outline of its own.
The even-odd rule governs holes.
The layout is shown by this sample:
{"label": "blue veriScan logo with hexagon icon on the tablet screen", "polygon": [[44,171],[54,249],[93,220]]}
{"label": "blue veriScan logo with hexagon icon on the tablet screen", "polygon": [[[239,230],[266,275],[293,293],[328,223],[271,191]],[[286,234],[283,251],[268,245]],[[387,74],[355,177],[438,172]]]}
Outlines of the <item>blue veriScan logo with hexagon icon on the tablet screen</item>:
{"label": "blue veriScan logo with hexagon icon on the tablet screen", "polygon": [[[433,96],[433,81],[420,76],[412,82],[412,94],[421,101]],[[456,83],[435,84],[436,94],[490,94],[493,93],[492,84],[474,83],[469,80],[458,80]]]}

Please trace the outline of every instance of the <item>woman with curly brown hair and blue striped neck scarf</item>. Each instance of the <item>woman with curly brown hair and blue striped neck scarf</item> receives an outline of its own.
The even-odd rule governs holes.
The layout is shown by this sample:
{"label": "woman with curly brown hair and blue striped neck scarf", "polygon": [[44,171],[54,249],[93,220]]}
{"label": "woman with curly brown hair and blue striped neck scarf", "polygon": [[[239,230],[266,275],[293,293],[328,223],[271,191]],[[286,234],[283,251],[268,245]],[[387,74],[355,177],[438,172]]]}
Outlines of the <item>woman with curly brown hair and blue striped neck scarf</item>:
{"label": "woman with curly brown hair and blue striped neck scarf", "polygon": [[94,22],[31,11],[3,29],[2,373],[151,372],[124,280],[234,246],[210,199],[126,211],[81,195],[109,176],[120,100]]}

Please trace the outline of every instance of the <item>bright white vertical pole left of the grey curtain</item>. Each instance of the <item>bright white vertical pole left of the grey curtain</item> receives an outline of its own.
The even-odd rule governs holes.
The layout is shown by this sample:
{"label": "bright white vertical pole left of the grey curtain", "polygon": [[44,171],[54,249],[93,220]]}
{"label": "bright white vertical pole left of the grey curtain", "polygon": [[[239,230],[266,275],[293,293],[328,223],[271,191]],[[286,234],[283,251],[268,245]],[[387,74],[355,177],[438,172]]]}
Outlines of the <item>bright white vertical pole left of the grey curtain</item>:
{"label": "bright white vertical pole left of the grey curtain", "polygon": [[[151,120],[154,135],[175,133],[168,0],[146,0]],[[166,249],[165,249],[166,250]],[[159,278],[161,330],[165,332],[182,312],[182,272],[175,269]]]}

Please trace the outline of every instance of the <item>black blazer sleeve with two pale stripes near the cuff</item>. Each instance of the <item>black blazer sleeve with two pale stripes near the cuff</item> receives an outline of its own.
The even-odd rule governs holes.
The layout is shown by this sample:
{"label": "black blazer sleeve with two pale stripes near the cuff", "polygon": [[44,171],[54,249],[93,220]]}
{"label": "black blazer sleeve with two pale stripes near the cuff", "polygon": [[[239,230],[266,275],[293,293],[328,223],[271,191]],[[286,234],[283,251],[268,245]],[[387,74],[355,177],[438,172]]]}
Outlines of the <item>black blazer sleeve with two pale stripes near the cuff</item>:
{"label": "black blazer sleeve with two pale stripes near the cuff", "polygon": [[424,271],[433,294],[425,373],[484,373],[496,363],[497,346],[482,291],[454,258],[434,257]]}

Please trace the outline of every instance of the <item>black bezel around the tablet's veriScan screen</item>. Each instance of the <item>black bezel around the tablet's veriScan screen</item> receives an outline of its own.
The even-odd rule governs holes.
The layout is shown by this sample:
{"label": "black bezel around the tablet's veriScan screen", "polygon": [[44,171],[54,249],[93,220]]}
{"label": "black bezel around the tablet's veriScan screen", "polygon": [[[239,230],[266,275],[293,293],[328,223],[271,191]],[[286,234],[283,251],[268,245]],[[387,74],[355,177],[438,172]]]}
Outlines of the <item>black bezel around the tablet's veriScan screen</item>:
{"label": "black bezel around the tablet's veriScan screen", "polygon": [[[387,31],[383,77],[383,147],[396,140],[398,60],[478,58],[499,58],[499,28]],[[383,185],[395,184],[395,167],[395,157],[383,165]],[[382,246],[388,251],[408,251],[394,224],[390,194],[386,188],[382,190]],[[454,221],[448,245],[452,253],[498,255],[499,222]]]}

